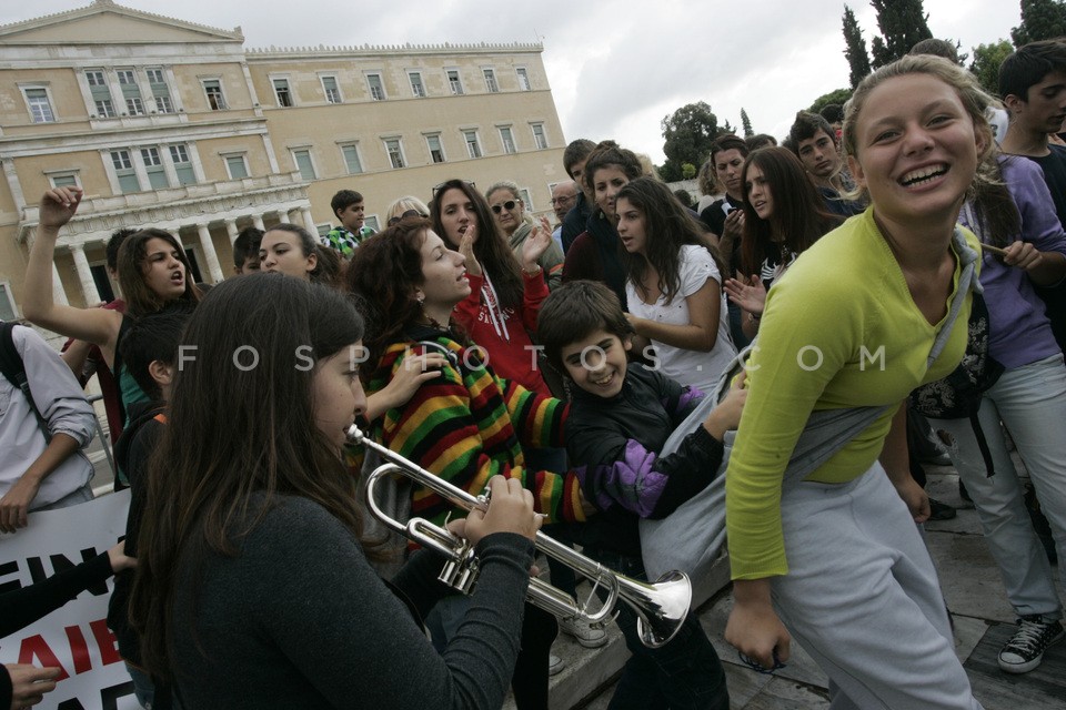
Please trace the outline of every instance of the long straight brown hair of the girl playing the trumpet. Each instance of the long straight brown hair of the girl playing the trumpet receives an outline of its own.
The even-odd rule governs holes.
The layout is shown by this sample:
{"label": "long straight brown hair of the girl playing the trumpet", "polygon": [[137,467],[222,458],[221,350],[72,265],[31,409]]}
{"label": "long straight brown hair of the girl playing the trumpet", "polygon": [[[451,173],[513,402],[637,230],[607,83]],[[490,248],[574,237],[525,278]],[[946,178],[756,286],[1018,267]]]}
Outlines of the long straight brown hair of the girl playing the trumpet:
{"label": "long straight brown hair of the girl playing the trumpet", "polygon": [[169,423],[149,466],[130,600],[152,674],[172,672],[182,558],[199,566],[211,555],[238,555],[240,538],[279,495],[308,498],[361,535],[355,479],[312,424],[310,365],[342,352],[362,329],[343,295],[269,273],[219,284],[189,320]]}

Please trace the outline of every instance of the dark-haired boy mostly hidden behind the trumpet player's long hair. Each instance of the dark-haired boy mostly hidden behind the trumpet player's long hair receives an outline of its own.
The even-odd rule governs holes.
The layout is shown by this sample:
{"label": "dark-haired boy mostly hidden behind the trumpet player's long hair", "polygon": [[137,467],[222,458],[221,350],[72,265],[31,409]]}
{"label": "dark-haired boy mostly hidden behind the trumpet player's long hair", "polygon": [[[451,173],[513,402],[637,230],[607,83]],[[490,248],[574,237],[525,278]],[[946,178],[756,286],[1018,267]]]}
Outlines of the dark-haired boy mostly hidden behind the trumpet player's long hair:
{"label": "dark-haired boy mostly hidden behind the trumpet player's long hair", "polygon": [[[175,304],[142,316],[130,326],[120,346],[130,376],[150,399],[130,405],[129,425],[114,447],[115,462],[129,476],[132,493],[125,519],[125,552],[130,557],[137,557],[137,538],[148,496],[148,464],[167,424],[164,410],[177,371],[178,345],[190,315],[192,311],[188,305]],[[158,709],[167,703],[163,697],[167,693],[160,693],[157,701],[158,683],[140,668],[140,640],[130,628],[127,612],[132,586],[132,571],[115,575],[114,591],[108,604],[108,626],[114,632],[119,655],[133,679],[138,702],[143,708]]]}

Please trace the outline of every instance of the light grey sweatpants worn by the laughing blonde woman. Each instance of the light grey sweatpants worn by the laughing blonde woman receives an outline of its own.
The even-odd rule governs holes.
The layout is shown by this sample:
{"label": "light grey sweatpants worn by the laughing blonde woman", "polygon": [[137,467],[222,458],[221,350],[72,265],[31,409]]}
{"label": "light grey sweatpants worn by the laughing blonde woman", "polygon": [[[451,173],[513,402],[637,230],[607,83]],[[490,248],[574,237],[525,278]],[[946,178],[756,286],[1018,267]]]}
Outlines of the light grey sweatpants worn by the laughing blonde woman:
{"label": "light grey sweatpants worn by the laughing blonde woman", "polygon": [[936,569],[879,464],[847,484],[786,481],[788,631],[829,677],[833,710],[979,710],[955,656]]}

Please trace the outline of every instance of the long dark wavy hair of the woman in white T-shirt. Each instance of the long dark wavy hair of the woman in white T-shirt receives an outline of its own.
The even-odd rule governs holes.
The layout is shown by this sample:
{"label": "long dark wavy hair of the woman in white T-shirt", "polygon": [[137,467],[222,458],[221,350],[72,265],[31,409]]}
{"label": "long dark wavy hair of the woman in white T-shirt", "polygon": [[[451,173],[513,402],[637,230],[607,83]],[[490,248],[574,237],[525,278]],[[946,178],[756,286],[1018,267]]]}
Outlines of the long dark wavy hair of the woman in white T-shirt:
{"label": "long dark wavy hair of the woman in white T-shirt", "polygon": [[681,287],[680,252],[685,244],[706,247],[718,273],[725,273],[717,250],[706,245],[700,224],[670,187],[654,178],[637,178],[622,186],[616,200],[626,200],[644,215],[645,253],[627,253],[624,257],[626,276],[643,296],[647,295],[644,275],[651,266],[658,273],[658,290],[666,296],[666,303],[673,302]]}

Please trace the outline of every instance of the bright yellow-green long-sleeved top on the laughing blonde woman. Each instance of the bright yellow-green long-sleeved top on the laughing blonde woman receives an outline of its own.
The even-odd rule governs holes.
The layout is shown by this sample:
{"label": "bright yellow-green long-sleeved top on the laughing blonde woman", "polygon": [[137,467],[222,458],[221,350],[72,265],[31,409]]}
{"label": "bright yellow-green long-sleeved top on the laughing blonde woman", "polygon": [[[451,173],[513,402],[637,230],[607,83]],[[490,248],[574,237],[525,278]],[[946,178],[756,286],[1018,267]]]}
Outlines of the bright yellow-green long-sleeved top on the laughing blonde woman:
{"label": "bright yellow-green long-sleeved top on the laughing blonde woman", "polygon": [[[979,248],[973,234],[964,234]],[[948,306],[958,291],[955,261]],[[809,414],[898,405],[915,387],[948,375],[966,349],[972,298],[962,296],[952,336],[927,368],[943,321],[931,325],[914,303],[872,210],[822,237],[774,284],[748,362],[747,404],[725,484],[733,579],[788,571],[782,479]],[[842,484],[869,469],[897,408],[889,406],[807,480]]]}

